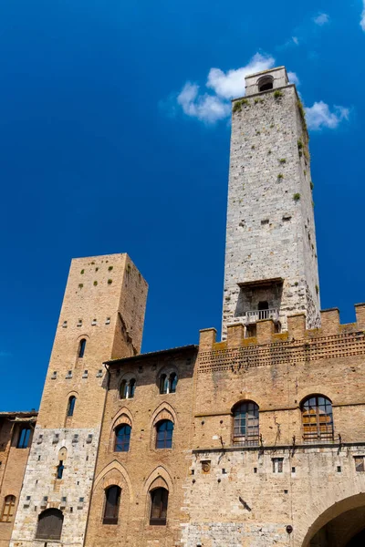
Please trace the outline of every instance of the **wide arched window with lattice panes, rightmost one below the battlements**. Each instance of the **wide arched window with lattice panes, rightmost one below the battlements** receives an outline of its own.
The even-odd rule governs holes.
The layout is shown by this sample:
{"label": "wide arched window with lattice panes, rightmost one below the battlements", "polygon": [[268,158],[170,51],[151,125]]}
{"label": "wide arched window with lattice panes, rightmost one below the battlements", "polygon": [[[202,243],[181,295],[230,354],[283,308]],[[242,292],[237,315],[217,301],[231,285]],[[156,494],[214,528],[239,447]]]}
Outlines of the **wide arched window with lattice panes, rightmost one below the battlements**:
{"label": "wide arched window with lattice panes, rightmost one below the battlements", "polygon": [[332,404],[327,397],[311,395],[301,404],[303,438],[307,442],[333,440]]}

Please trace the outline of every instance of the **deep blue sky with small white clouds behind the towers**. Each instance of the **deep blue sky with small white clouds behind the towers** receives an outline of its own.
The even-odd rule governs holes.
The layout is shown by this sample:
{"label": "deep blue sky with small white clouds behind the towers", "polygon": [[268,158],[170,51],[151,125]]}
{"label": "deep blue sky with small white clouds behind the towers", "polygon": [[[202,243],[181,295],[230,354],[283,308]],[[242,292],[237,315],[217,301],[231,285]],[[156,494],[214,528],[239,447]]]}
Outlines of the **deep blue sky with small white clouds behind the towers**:
{"label": "deep blue sky with small white clouds behind the towers", "polygon": [[38,408],[72,257],[130,254],[150,284],[143,351],[220,329],[227,105],[257,63],[300,82],[321,304],[354,320],[365,300],[363,10],[361,0],[0,5],[1,410]]}

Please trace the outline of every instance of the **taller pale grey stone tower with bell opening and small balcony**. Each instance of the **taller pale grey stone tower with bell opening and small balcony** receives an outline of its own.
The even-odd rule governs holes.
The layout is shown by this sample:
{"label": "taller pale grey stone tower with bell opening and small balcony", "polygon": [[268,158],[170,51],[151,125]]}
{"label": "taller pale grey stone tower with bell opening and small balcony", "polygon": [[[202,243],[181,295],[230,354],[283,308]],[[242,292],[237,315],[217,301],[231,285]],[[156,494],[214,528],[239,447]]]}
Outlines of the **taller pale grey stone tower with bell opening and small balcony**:
{"label": "taller pale grey stone tower with bell opening and small balcony", "polygon": [[285,67],[245,78],[233,101],[223,337],[231,323],[305,312],[319,325],[312,181],[305,114]]}

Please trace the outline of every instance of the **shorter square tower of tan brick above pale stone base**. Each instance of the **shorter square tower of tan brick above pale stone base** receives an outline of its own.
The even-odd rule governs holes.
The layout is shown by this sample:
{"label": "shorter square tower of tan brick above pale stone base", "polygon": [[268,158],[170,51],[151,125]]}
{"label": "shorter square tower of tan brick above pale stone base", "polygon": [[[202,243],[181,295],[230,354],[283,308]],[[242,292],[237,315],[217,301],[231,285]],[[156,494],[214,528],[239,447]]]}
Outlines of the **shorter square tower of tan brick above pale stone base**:
{"label": "shorter square tower of tan brick above pale stone base", "polygon": [[56,545],[60,527],[62,545],[83,545],[108,389],[103,361],[140,353],[147,290],[127,254],[72,261],[12,547]]}

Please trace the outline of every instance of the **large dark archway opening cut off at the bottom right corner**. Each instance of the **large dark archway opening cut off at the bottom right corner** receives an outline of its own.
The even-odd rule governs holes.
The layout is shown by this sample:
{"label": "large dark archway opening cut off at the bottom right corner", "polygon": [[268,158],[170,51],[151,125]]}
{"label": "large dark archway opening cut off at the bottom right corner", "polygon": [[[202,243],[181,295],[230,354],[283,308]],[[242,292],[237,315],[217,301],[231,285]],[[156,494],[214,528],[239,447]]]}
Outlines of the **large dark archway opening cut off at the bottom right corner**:
{"label": "large dark archway opening cut off at the bottom right corner", "polygon": [[365,493],[341,500],[324,511],[309,528],[303,547],[363,547]]}

